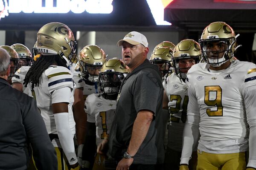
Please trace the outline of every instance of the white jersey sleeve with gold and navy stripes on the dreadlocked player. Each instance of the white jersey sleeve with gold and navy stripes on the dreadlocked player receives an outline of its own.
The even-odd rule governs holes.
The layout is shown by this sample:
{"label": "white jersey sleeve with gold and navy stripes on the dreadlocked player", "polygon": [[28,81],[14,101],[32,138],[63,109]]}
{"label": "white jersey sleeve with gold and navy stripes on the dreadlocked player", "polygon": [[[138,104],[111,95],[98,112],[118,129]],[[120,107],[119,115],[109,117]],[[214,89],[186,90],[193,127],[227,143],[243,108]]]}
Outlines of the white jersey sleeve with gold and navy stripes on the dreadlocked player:
{"label": "white jersey sleeve with gold and navy stripes on the dreadlocked player", "polygon": [[51,66],[45,71],[45,74],[48,79],[49,93],[60,88],[74,88],[73,74],[65,67]]}

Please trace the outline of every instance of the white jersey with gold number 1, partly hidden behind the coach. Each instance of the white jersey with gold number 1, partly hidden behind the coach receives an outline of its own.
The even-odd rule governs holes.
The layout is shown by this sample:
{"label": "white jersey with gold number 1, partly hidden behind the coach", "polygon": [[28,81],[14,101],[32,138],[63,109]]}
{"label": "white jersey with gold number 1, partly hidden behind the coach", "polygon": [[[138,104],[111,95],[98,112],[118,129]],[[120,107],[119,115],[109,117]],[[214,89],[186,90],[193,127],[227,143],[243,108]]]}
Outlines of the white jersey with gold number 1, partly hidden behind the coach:
{"label": "white jersey with gold number 1, partly hidden behind the coach", "polygon": [[105,99],[99,94],[90,94],[85,101],[87,122],[96,123],[96,144],[99,145],[109,130],[116,112],[116,100]]}

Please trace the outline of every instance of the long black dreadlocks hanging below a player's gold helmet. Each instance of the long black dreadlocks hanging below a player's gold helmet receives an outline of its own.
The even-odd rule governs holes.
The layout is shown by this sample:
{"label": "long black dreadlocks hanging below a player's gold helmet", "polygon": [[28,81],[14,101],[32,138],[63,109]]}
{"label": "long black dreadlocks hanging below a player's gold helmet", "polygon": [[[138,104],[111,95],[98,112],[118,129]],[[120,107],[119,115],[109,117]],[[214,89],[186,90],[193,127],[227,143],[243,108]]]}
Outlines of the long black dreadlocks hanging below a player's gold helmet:
{"label": "long black dreadlocks hanging below a player's gold helmet", "polygon": [[39,84],[39,78],[41,74],[50,66],[55,65],[63,66],[67,68],[66,63],[61,59],[59,55],[41,55],[31,66],[24,79],[24,85],[27,87],[28,83],[31,82],[31,88]]}

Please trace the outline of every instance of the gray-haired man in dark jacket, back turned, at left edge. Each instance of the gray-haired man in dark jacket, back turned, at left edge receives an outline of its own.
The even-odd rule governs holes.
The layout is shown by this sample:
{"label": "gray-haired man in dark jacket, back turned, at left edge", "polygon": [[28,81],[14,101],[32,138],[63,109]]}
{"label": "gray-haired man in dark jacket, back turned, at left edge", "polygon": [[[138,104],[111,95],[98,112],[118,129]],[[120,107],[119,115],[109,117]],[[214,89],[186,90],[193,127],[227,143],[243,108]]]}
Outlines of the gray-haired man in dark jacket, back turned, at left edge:
{"label": "gray-haired man in dark jacket, back turned, at left edge", "polygon": [[56,153],[35,100],[7,82],[9,63],[9,54],[0,48],[0,169],[28,169],[30,143],[36,167],[56,170]]}

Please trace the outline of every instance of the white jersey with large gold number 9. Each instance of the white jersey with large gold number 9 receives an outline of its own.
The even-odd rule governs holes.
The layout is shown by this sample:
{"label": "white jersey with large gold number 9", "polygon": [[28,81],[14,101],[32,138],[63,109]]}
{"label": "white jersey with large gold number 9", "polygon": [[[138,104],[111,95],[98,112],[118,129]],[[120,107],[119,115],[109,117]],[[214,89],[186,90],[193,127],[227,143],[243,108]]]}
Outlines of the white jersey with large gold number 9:
{"label": "white jersey with large gold number 9", "polygon": [[238,153],[247,150],[248,125],[242,97],[251,62],[233,60],[228,68],[209,71],[207,63],[189,69],[187,115],[200,118],[198,149],[208,153]]}

